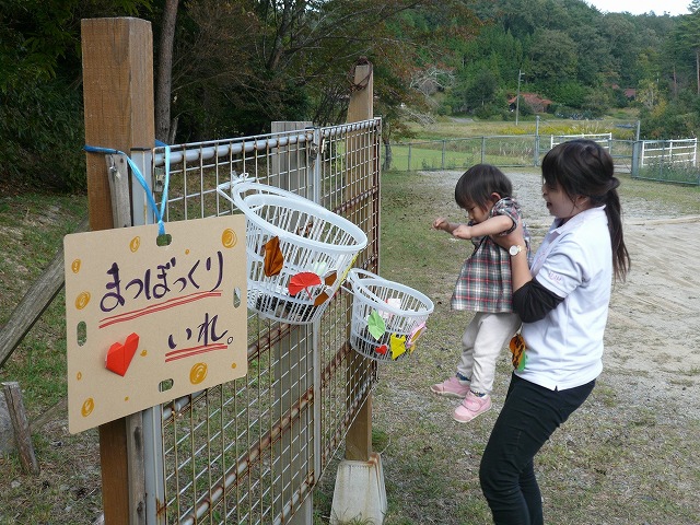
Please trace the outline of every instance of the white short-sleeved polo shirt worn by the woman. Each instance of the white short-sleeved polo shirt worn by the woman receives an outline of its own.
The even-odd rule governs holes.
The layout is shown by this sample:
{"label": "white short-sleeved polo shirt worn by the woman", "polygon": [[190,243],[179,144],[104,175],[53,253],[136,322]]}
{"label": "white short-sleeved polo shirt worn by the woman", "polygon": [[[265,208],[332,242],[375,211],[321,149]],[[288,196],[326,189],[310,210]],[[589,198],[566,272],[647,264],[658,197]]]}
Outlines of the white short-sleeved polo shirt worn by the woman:
{"label": "white short-sleeved polo shirt worn by the woman", "polygon": [[558,223],[552,223],[535,254],[530,271],[564,301],[544,319],[523,323],[527,361],[524,370],[515,372],[551,390],[581,386],[600,374],[612,283],[605,207]]}

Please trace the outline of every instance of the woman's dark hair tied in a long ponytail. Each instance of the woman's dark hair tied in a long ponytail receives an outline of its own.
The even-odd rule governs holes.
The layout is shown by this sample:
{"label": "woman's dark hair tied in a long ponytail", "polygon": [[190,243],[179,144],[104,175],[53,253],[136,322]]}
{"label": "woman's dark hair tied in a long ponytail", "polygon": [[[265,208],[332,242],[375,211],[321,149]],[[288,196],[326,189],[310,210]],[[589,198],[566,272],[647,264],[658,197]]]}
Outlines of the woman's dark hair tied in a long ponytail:
{"label": "woman's dark hair tied in a long ponytail", "polygon": [[608,230],[612,242],[615,278],[625,280],[630,268],[630,255],[622,236],[622,207],[614,175],[610,154],[592,140],[576,139],[552,148],[542,160],[545,184],[559,187],[572,200],[583,196],[594,207],[605,205]]}

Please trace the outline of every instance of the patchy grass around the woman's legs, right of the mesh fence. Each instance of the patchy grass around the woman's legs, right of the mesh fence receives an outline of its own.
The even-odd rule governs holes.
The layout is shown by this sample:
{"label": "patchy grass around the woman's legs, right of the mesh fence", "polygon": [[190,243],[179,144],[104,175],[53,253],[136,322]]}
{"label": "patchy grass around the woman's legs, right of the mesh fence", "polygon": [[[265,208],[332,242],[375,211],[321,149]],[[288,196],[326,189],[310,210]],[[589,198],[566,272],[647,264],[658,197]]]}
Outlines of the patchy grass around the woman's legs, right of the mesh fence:
{"label": "patchy grass around the woman's legs, right of the mesh fence", "polygon": [[[497,413],[487,412],[468,428],[456,425],[450,418],[454,404],[427,388],[454,373],[455,336],[469,318],[468,313],[450,313],[446,304],[464,247],[429,233],[434,217],[454,209],[451,188],[445,190],[439,177],[386,172],[382,178],[381,273],[438,298],[411,360],[380,369],[373,435],[382,436],[374,447],[383,458],[385,525],[491,523],[478,467]],[[700,212],[699,188],[621,177],[622,197],[658,209],[660,217]],[[510,370],[502,355],[495,399],[504,396]],[[547,523],[700,523],[693,497],[700,487],[700,420],[692,412],[677,421],[674,408],[660,415],[645,399],[630,399],[627,390],[635,382],[623,371],[604,374],[592,398],[538,454]],[[678,382],[697,388],[697,381]],[[317,497],[317,512],[328,516],[332,467],[322,481],[317,493],[325,499]]]}

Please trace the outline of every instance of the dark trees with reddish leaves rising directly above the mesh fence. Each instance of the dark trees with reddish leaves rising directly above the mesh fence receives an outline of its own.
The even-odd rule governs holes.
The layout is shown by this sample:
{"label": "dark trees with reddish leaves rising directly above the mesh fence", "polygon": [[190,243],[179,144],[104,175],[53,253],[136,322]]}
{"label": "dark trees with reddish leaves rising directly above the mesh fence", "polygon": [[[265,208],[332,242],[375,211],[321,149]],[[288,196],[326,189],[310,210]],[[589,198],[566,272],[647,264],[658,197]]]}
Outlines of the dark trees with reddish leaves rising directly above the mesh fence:
{"label": "dark trees with reddish leaves rising directly above the mesh fence", "polygon": [[187,2],[173,73],[182,138],[259,133],[271,119],[337,119],[359,57],[385,73],[375,78],[381,100],[406,103],[411,79],[440,66],[438,43],[467,34],[469,15],[452,0]]}

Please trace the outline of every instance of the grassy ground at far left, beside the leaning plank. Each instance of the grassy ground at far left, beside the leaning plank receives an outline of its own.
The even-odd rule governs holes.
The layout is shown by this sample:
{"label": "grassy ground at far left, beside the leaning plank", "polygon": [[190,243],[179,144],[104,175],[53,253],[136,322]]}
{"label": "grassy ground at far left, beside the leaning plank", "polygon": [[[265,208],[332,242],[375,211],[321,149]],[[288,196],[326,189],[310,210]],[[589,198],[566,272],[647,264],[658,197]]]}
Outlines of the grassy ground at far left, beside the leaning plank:
{"label": "grassy ground at far left, beside the leaning plank", "polygon": [[[86,198],[27,194],[0,199],[0,326],[86,214]],[[0,369],[0,382],[16,381],[31,422],[65,398],[66,323],[62,292]],[[65,408],[62,409],[65,411]],[[100,514],[96,432],[70,435],[59,422],[33,427],[37,477],[24,475],[15,454],[0,455],[0,523],[88,523]],[[56,418],[54,418],[56,419]]]}

